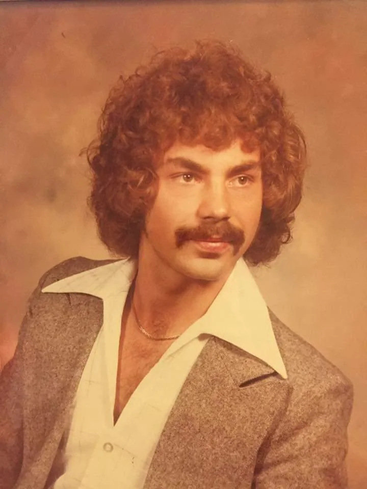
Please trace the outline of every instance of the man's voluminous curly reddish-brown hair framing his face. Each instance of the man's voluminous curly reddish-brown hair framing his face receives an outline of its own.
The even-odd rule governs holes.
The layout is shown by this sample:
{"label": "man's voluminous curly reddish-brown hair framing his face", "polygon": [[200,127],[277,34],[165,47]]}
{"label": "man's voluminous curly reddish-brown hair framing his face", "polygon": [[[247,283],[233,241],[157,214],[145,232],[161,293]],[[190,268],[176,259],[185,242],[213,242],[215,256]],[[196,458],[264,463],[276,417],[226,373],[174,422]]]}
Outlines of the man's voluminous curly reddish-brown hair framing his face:
{"label": "man's voluminous curly reddish-brown hair framing his face", "polygon": [[137,258],[145,215],[154,202],[154,165],[175,143],[213,150],[240,139],[260,151],[263,208],[244,255],[267,263],[291,240],[301,200],[306,146],[269,73],[237,49],[197,41],[157,53],[128,78],[120,76],[87,148],[92,170],[89,205],[99,236],[117,256]]}

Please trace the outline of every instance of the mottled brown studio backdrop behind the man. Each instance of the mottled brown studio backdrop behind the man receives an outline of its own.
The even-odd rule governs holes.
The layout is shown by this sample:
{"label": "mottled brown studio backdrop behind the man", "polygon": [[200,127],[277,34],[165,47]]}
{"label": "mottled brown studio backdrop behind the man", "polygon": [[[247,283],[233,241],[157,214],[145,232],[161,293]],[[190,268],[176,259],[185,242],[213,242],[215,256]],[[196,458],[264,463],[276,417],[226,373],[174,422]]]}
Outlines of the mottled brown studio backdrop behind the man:
{"label": "mottled brown studio backdrop behind the man", "polygon": [[271,71],[305,131],[294,241],[254,270],[269,306],[355,386],[350,487],[367,486],[365,2],[0,3],[0,354],[40,275],[106,258],[78,156],[120,73],[155,49],[231,39]]}

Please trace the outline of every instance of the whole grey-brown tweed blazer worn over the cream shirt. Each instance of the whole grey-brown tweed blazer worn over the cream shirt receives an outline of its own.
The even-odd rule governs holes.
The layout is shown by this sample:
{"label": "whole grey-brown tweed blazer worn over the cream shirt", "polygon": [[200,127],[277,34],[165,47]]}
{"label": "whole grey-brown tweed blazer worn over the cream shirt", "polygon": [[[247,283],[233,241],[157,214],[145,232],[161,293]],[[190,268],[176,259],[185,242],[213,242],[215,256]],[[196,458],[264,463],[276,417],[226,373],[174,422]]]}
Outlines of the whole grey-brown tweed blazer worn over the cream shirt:
{"label": "whole grey-brown tweed blazer worn over the cream shirt", "polygon": [[[102,301],[42,287],[107,263],[67,260],[29,302],[0,376],[0,489],[43,489],[102,323]],[[341,489],[353,390],[272,313],[289,378],[211,338],[170,413],[144,489]],[[117,489],[117,488],[114,488]]]}

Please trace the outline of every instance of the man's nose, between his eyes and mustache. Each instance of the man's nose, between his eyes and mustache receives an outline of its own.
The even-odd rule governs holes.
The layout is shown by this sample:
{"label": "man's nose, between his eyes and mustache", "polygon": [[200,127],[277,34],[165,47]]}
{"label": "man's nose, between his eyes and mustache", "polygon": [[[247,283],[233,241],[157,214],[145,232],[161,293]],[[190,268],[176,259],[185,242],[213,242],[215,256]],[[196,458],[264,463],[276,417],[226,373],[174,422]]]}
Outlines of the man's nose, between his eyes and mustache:
{"label": "man's nose, between his eyes and mustache", "polygon": [[229,219],[230,206],[228,191],[221,183],[210,183],[203,187],[198,208],[200,219],[215,219],[217,221]]}

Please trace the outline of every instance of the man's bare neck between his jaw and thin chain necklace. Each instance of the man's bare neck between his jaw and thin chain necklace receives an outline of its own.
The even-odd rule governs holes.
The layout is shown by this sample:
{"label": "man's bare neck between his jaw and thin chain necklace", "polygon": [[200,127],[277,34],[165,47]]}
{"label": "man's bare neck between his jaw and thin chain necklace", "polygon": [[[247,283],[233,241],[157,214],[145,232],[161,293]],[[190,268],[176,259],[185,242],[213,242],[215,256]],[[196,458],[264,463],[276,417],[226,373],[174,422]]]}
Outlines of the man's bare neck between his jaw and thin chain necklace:
{"label": "man's bare neck between his jaw and thin chain necklace", "polygon": [[218,281],[195,280],[168,266],[139,260],[133,295],[139,321],[154,336],[182,334],[205,314],[228,276]]}

